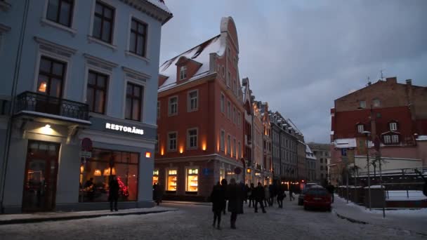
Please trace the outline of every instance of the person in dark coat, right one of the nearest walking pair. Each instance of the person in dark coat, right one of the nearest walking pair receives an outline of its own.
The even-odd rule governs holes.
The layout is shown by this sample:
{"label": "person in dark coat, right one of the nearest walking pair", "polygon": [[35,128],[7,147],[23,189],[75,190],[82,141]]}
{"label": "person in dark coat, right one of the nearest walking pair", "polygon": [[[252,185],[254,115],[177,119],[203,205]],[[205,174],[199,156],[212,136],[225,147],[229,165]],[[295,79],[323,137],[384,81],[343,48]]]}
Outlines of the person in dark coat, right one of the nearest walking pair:
{"label": "person in dark coat, right one of the nearest walking pair", "polygon": [[227,187],[226,198],[228,198],[228,211],[231,213],[230,225],[232,229],[236,229],[237,214],[243,213],[243,190],[236,184],[234,178],[230,180],[230,185]]}

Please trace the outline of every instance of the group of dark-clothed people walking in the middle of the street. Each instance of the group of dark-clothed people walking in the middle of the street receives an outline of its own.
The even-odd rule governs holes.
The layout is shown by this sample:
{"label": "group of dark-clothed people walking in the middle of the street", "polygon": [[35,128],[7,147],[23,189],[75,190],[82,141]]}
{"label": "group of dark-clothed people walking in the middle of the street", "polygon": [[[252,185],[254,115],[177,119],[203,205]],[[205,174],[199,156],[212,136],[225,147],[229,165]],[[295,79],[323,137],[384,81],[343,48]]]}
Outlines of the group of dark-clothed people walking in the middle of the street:
{"label": "group of dark-clothed people walking in the middle of the street", "polygon": [[[244,185],[242,182],[236,183],[236,180],[232,178],[230,184],[227,180],[221,180],[213,186],[211,192],[212,211],[213,211],[213,227],[221,229],[221,214],[225,215],[225,209],[228,201],[228,211],[231,213],[230,216],[230,227],[236,229],[237,214],[243,213],[243,203],[247,204],[249,200],[249,207],[254,208],[254,212],[258,213],[258,204],[261,207],[263,213],[266,213],[266,206],[273,206],[275,202],[279,208],[283,208],[283,200],[287,196],[285,194],[286,187],[284,185],[273,184],[273,185],[258,185],[252,183]],[[292,190],[289,189],[289,200],[292,200]]]}

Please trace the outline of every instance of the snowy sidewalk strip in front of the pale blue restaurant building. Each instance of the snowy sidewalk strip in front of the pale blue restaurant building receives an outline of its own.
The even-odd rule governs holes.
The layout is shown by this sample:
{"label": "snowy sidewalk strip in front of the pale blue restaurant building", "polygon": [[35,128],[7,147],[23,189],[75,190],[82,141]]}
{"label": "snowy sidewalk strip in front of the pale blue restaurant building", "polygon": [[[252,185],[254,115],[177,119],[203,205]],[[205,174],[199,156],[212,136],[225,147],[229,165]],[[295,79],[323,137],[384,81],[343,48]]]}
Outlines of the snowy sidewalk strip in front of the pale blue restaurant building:
{"label": "snowy sidewalk strip in front of the pale blue restaurant building", "polygon": [[78,211],[78,212],[46,212],[46,213],[22,213],[22,214],[0,214],[0,225],[45,222],[58,220],[74,220],[81,218],[98,218],[103,216],[141,215],[149,213],[164,213],[176,211],[176,208],[165,208],[155,206],[153,208],[131,208],[117,212],[110,210],[101,211]]}

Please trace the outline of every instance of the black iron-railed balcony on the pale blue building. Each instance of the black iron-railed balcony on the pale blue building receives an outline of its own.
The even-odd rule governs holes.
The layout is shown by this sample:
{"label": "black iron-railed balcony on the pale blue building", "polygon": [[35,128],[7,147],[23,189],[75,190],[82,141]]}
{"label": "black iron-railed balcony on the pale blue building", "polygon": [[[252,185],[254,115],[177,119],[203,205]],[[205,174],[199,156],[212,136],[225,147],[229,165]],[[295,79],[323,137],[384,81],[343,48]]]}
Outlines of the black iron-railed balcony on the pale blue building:
{"label": "black iron-railed balcony on the pale blue building", "polygon": [[16,97],[15,114],[30,114],[63,121],[91,124],[88,105],[82,102],[55,98],[33,92],[23,92]]}

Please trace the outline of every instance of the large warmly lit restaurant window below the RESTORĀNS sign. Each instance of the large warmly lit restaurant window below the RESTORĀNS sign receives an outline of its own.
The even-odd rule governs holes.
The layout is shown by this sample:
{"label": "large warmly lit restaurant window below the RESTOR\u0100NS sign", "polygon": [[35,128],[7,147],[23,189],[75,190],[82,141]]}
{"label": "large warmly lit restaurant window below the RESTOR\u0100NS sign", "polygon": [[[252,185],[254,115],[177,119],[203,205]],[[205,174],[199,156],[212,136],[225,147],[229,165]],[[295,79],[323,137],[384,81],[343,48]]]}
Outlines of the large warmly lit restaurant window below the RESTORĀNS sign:
{"label": "large warmly lit restaurant window below the RESTOR\u0100NS sign", "polygon": [[92,158],[82,165],[79,202],[106,202],[112,175],[119,182],[119,201],[138,197],[139,154],[93,149]]}

